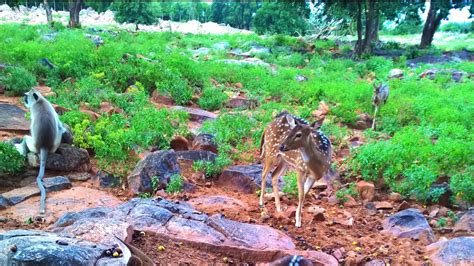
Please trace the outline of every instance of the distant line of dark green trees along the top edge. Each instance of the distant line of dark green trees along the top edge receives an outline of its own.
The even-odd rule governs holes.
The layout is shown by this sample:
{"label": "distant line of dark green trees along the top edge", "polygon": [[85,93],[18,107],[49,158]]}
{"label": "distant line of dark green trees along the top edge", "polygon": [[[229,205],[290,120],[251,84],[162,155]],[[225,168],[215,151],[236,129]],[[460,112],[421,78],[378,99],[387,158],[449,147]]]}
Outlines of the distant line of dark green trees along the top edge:
{"label": "distant line of dark green trees along the top edge", "polygon": [[[1,1],[1,0],[0,0]],[[55,10],[69,10],[70,26],[79,24],[79,11],[92,7],[98,12],[112,9],[118,22],[153,24],[158,19],[172,21],[198,20],[228,24],[235,28],[252,29],[259,34],[288,34],[302,36],[311,32],[308,23],[310,9],[305,0],[293,1],[213,1],[212,4],[200,0],[189,2],[167,1],[110,1],[110,0],[4,0],[10,6],[36,6],[45,4]],[[422,25],[418,10],[426,8],[425,0],[311,0],[315,5],[324,5],[327,21],[343,21],[347,31],[357,36],[355,52],[370,54],[374,42],[378,41],[383,22],[392,20],[397,30],[403,33],[419,33],[420,47],[431,45],[434,33],[441,21],[452,8],[470,6],[469,0],[431,0],[427,19]],[[48,9],[46,11],[48,13]],[[48,15],[48,21],[50,18]],[[313,25],[314,26],[314,25]]]}

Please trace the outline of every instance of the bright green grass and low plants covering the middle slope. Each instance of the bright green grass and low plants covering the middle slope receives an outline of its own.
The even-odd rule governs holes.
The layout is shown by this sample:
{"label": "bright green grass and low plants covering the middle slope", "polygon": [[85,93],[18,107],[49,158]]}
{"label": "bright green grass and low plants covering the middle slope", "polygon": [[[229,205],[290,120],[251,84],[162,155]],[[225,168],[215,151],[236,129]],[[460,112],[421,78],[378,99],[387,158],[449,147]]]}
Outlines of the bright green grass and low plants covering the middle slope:
{"label": "bright green grass and low plants covering the middle slope", "polygon": [[[218,160],[196,164],[207,176],[217,176],[232,162],[255,161],[253,152],[259,147],[263,128],[275,114],[286,109],[312,120],[311,113],[320,101],[329,105],[322,129],[331,136],[336,152],[347,147],[353,134],[350,127],[358,115],[373,113],[370,99],[375,79],[388,82],[390,97],[380,110],[378,131],[365,131],[367,143],[351,149],[351,156],[343,162],[345,176],[383,179],[387,188],[421,201],[436,200],[440,192],[428,192],[429,187],[447,176],[458,200],[474,200],[472,80],[465,77],[463,82],[455,83],[442,74],[434,80],[418,78],[428,68],[472,73],[474,63],[406,67],[406,60],[413,56],[461,49],[458,44],[462,49],[469,47],[472,42],[468,35],[435,42],[429,50],[386,43],[385,49],[403,47],[405,54],[394,59],[374,56],[353,61],[334,58],[331,52],[339,48],[339,53],[347,53],[347,45],[338,47],[333,41],[306,43],[282,35],[261,38],[254,34],[120,31],[117,36],[101,33],[104,45],[95,47],[84,37],[84,30],[58,28],[54,40],[45,40],[43,36],[50,33],[45,26],[0,25],[0,62],[21,68],[52,86],[55,96],[49,100],[72,110],[61,119],[71,126],[75,145],[89,149],[101,167],[114,175],[126,176],[138,160],[137,153],[152,146],[166,149],[174,135],[188,134],[187,115],[156,109],[149,102],[155,90],[169,95],[176,104],[193,103],[219,110],[218,118],[206,121],[200,129],[215,135]],[[191,50],[211,48],[221,41],[243,51],[253,45],[270,48],[270,54],[257,57],[273,64],[273,69],[219,62],[230,57],[213,49],[206,57],[193,57]],[[311,45],[314,53],[304,52]],[[42,66],[42,58],[48,58],[56,68]],[[387,81],[392,68],[402,69],[404,79]],[[308,80],[298,82],[297,75]],[[236,83],[242,88],[237,89],[233,85]],[[223,109],[227,95],[237,93],[256,100],[257,107]],[[102,112],[104,102],[118,112]],[[100,113],[101,118],[93,121],[79,112],[86,103],[87,109]]]}

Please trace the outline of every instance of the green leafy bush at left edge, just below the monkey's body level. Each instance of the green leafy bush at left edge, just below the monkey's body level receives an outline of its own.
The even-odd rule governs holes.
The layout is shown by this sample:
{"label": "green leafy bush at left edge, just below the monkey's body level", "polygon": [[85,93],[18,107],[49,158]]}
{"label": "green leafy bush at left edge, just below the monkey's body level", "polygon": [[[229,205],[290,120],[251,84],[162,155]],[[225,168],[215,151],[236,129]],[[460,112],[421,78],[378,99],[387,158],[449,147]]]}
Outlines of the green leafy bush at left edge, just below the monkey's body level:
{"label": "green leafy bush at left edge, just below the monkey's body level", "polygon": [[0,142],[0,175],[18,174],[24,168],[25,157],[23,157],[15,146]]}

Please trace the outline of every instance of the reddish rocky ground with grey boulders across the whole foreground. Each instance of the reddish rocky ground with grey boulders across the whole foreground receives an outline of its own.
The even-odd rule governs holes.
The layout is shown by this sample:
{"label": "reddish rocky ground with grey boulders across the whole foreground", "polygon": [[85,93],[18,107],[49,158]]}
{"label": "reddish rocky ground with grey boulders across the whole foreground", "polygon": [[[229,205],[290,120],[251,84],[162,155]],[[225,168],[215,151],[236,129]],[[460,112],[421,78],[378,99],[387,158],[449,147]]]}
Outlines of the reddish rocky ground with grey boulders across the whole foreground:
{"label": "reddish rocky ground with grey boulders across the whole foreground", "polygon": [[[157,95],[154,98],[160,108],[191,113],[190,127],[216,117],[195,108],[171,106]],[[0,113],[8,114],[0,116],[3,140],[28,133],[24,111],[19,98],[0,95]],[[361,141],[354,138],[353,144]],[[31,258],[50,263],[123,263],[127,252],[114,258],[115,237],[161,263],[255,264],[296,254],[323,265],[474,261],[472,210],[446,207],[445,202],[422,206],[402,201],[400,195],[363,181],[357,183],[358,197],[341,202],[318,182],[306,198],[303,226],[295,228],[294,197],[283,195],[282,213],[275,211],[271,194],[265,196],[265,208],[258,208],[262,171],[258,159],[206,179],[191,166],[196,160],[214,160],[211,136],[177,137],[171,147],[175,150],[143,154],[127,178],[127,187],[113,187],[117,180],[97,171],[85,150],[62,144],[48,165],[47,214],[42,218],[37,216],[37,170],[0,178],[0,264]],[[257,152],[253,156],[257,158]],[[339,151],[335,159],[344,156],[347,150]],[[28,162],[34,166],[37,158],[29,156]],[[185,178],[184,191],[169,195],[163,189],[174,173]],[[150,191],[153,176],[159,177],[158,192],[152,198],[136,198]],[[269,178],[267,187],[271,187]],[[461,218],[448,218],[439,226],[437,221],[448,217],[448,211]]]}

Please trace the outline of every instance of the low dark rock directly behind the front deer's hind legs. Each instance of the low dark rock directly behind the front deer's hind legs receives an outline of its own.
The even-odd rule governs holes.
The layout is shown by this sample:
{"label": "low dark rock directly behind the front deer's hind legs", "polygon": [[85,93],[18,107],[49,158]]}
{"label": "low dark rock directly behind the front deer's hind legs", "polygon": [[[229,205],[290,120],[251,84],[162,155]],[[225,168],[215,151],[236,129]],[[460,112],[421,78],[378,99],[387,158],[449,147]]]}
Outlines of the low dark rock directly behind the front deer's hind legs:
{"label": "low dark rock directly behind the front deer's hind legs", "polygon": [[[238,165],[224,170],[219,176],[216,184],[236,191],[253,194],[261,187],[262,165]],[[278,180],[280,190],[283,187],[282,179]],[[266,178],[266,187],[272,187],[271,176]]]}

